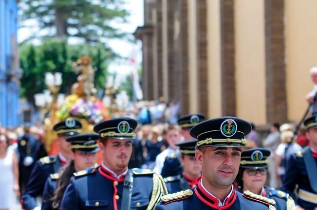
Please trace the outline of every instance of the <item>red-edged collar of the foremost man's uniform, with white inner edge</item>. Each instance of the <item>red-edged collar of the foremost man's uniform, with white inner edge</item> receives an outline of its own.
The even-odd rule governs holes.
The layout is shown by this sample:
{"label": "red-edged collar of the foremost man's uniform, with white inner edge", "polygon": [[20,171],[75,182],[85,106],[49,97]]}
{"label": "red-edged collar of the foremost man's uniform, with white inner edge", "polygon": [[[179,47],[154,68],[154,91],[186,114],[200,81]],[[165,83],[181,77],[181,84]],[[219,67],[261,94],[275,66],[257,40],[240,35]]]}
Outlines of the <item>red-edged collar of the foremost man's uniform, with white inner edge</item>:
{"label": "red-edged collar of the foremost man's uniform, with white inner edge", "polygon": [[230,207],[237,198],[236,191],[233,190],[233,186],[231,185],[231,191],[224,199],[224,203],[222,203],[216,196],[205,189],[202,180],[195,188],[195,193],[206,205],[216,209],[218,209],[218,207],[224,207],[223,209]]}

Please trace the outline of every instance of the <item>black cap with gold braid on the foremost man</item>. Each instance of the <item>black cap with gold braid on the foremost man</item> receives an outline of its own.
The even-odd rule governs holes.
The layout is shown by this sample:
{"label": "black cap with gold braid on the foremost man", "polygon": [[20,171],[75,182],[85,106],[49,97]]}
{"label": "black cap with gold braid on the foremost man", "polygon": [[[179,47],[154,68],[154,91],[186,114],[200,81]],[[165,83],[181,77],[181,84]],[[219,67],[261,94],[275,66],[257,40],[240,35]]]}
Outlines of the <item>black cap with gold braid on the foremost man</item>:
{"label": "black cap with gold braid on the foremost man", "polygon": [[190,130],[190,136],[197,139],[197,146],[246,147],[246,136],[251,124],[236,117],[221,117],[204,121]]}

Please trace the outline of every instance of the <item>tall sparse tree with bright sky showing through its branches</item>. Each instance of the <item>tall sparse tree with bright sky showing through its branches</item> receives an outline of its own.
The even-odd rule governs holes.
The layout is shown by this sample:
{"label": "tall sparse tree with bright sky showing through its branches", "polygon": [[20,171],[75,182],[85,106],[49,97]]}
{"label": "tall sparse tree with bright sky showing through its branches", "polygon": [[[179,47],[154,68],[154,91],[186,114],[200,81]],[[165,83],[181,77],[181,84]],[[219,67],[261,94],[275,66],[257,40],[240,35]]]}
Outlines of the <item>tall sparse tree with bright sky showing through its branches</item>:
{"label": "tall sparse tree with bright sky showing through its branches", "polygon": [[[86,42],[102,42],[107,38],[122,38],[125,33],[112,27],[112,21],[126,22],[128,11],[124,0],[20,0],[20,19],[37,19],[45,36],[79,37]],[[53,30],[52,30],[53,29]],[[30,38],[40,38],[37,33]]]}

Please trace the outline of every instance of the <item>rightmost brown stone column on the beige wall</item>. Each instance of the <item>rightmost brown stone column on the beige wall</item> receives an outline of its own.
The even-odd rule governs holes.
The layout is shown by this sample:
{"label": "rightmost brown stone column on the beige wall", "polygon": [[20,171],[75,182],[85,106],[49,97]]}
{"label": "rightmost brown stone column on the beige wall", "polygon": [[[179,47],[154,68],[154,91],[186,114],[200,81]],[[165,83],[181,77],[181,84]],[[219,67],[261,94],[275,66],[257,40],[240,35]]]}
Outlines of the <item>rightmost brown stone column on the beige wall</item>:
{"label": "rightmost brown stone column on the beige wall", "polygon": [[267,123],[287,121],[284,0],[264,0]]}

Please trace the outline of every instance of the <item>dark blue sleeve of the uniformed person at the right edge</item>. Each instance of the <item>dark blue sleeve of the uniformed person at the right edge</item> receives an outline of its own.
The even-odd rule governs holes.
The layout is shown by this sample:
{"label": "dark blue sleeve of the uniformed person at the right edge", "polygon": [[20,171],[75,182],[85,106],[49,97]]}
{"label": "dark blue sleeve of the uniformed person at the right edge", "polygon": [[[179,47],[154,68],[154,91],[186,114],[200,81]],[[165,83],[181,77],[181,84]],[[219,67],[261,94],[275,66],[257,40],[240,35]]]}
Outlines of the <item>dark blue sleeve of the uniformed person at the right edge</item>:
{"label": "dark blue sleeve of the uniformed person at the right edge", "polygon": [[287,161],[286,173],[285,173],[284,179],[282,180],[283,185],[281,190],[289,193],[294,201],[296,201],[296,196],[294,193],[296,179],[297,179],[296,156],[292,155]]}

